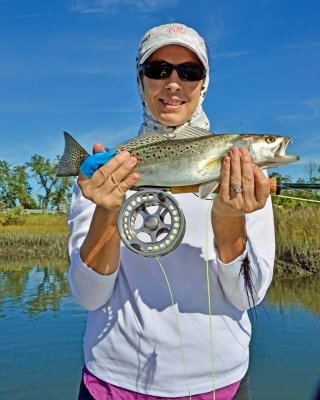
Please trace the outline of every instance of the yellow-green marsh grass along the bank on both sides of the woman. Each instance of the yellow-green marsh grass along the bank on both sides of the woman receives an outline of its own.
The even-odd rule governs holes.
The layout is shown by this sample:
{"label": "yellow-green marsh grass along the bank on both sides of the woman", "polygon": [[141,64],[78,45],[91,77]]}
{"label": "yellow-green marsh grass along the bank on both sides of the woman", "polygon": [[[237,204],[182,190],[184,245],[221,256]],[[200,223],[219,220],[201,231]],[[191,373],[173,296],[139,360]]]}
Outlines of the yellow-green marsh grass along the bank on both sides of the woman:
{"label": "yellow-green marsh grass along the bank on both sides of the woman", "polygon": [[[275,275],[320,276],[319,206],[285,208],[274,204]],[[65,214],[25,215],[21,225],[0,225],[0,268],[21,260],[65,261],[69,230]]]}

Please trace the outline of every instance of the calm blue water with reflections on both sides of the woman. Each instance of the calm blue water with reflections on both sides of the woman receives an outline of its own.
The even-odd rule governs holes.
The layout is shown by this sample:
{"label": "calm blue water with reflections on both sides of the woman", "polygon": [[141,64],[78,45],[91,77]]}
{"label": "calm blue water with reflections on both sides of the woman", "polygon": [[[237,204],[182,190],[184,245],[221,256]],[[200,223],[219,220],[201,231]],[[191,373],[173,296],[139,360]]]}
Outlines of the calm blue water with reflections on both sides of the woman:
{"label": "calm blue water with reflections on both sides of the woman", "polygon": [[[0,265],[0,399],[70,400],[81,377],[86,313],[67,265]],[[253,315],[252,400],[311,400],[320,384],[320,279],[275,280]]]}

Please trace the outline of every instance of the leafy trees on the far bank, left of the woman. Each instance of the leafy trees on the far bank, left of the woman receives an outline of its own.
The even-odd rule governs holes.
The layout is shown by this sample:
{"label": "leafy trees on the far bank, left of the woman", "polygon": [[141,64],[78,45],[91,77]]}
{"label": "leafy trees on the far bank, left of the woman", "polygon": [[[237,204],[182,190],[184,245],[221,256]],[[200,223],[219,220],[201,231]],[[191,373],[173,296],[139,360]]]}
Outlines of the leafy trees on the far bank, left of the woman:
{"label": "leafy trees on the far bank, left of the woman", "polygon": [[68,207],[74,178],[56,176],[59,157],[54,161],[35,154],[23,165],[0,160],[0,209],[51,209]]}

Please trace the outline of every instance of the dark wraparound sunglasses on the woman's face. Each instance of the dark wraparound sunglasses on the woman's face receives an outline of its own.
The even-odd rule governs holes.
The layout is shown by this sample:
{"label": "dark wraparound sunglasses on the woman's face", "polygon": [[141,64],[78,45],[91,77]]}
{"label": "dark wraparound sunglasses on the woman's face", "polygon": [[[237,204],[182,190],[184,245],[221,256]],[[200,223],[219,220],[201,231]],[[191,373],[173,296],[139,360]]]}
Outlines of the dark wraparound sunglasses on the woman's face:
{"label": "dark wraparound sunglasses on the woman's face", "polygon": [[166,79],[174,69],[182,81],[189,82],[201,81],[207,73],[201,64],[194,62],[170,64],[166,61],[147,61],[140,66],[139,73],[150,79]]}

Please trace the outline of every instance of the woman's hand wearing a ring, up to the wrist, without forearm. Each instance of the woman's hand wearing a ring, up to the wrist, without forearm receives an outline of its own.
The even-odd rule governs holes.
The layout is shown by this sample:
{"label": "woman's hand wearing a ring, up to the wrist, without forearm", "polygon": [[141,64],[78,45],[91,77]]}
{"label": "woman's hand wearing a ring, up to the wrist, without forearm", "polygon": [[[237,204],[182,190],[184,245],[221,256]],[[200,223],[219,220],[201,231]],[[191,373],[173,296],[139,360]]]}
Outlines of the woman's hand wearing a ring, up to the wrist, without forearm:
{"label": "woman's hand wearing a ring, up to the wrist, without forearm", "polygon": [[221,183],[213,204],[213,213],[237,217],[259,210],[270,194],[269,180],[252,163],[247,149],[232,148],[221,165]]}

